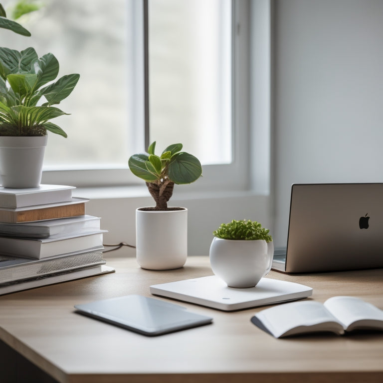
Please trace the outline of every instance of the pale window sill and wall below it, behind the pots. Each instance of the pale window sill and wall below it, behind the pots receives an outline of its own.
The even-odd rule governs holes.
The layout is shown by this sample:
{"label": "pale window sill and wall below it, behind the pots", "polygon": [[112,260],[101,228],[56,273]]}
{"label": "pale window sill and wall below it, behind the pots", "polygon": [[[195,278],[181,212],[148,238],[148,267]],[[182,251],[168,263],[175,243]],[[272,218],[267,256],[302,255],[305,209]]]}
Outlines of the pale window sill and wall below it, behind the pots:
{"label": "pale window sill and wall below it, behind the pots", "polygon": [[[271,198],[252,191],[190,192],[175,190],[170,206],[188,208],[188,255],[209,254],[212,232],[232,219],[257,220],[272,233]],[[184,189],[184,191],[181,191]],[[74,196],[89,198],[86,213],[101,217],[104,243],[136,243],[136,209],[153,206],[146,186],[78,188]],[[173,201],[173,203],[172,203]],[[176,202],[175,202],[176,201]],[[150,235],[150,234],[148,234]],[[134,256],[126,251],[127,256]]]}

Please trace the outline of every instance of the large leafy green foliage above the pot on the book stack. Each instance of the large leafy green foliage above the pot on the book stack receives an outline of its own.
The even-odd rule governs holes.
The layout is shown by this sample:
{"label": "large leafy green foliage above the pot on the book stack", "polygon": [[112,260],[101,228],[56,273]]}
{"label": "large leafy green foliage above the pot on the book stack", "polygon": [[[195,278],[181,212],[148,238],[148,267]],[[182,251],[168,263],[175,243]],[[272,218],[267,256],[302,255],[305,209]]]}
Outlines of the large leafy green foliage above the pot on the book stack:
{"label": "large leafy green foliage above the pot on the book stack", "polygon": [[[52,53],[38,58],[33,48],[20,52],[0,48],[0,135],[45,135],[46,131],[67,137],[52,118],[67,114],[52,107],[69,96],[79,74],[56,79],[59,63]],[[44,97],[46,102],[37,106]]]}

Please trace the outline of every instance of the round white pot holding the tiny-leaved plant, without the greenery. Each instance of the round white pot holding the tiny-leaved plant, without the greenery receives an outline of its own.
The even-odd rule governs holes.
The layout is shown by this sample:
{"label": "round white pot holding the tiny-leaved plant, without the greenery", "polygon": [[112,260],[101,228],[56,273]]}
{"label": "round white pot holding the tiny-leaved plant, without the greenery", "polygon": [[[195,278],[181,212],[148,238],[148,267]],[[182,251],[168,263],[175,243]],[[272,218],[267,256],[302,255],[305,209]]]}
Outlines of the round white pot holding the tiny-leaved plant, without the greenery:
{"label": "round white pot holding the tiny-leaved plant, without the greenery", "polygon": [[271,269],[273,242],[214,237],[210,245],[213,273],[229,287],[254,287]]}

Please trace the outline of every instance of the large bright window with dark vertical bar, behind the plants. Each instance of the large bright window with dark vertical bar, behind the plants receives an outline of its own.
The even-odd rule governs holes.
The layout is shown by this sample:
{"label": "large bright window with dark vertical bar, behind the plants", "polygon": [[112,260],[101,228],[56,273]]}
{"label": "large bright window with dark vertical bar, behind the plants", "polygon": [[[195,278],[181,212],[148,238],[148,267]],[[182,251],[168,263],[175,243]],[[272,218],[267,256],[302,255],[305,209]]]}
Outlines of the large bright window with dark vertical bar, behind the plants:
{"label": "large bright window with dark vertical bar, behind the plants", "polygon": [[[49,135],[43,182],[138,183],[127,163],[131,154],[145,150],[146,139],[156,140],[159,150],[182,142],[204,165],[200,186],[243,189],[248,153],[243,2],[148,0],[145,137],[144,1],[46,0],[19,20],[32,37],[6,39],[13,49],[33,46],[40,56],[52,52],[59,76],[80,73],[59,106],[71,115],[55,121],[68,138]],[[3,1],[5,7],[9,3]]]}

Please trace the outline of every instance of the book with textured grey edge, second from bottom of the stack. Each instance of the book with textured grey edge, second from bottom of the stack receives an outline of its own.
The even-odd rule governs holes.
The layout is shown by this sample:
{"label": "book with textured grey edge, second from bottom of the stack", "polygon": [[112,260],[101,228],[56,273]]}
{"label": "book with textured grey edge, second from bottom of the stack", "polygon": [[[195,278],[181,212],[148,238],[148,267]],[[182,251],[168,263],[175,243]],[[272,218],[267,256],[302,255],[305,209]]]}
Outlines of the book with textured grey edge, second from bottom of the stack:
{"label": "book with textured grey edge, second from bottom of the stack", "polygon": [[57,272],[105,264],[102,248],[54,258],[28,259],[0,255],[0,286],[4,283],[41,277]]}

